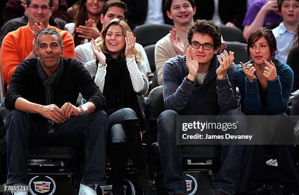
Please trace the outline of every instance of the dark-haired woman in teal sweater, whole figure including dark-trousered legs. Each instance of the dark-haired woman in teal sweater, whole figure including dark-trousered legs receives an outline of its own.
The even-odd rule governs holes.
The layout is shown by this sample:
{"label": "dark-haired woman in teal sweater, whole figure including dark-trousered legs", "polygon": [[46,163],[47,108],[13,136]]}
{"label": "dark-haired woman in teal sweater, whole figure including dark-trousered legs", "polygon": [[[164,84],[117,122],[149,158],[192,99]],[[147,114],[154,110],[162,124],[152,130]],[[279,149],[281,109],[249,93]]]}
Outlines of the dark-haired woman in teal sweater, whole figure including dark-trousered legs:
{"label": "dark-haired woman in teal sweater, whole figure including dark-trousered legs", "polygon": [[[288,109],[294,74],[289,65],[275,58],[276,40],[272,31],[265,27],[253,31],[248,39],[247,52],[252,60],[246,64],[240,63],[241,66],[237,69],[241,111],[246,115],[282,115],[282,120],[287,121],[287,117],[283,115]],[[258,131],[267,131],[267,128],[268,126],[261,127]],[[283,134],[288,132],[286,127],[281,130]],[[293,133],[292,131],[292,136]],[[278,182],[282,184],[286,194],[291,195],[297,190],[299,182],[295,146],[273,145],[273,148],[274,154],[278,154]],[[240,185],[263,182],[266,174],[264,145],[246,145],[244,150]]]}

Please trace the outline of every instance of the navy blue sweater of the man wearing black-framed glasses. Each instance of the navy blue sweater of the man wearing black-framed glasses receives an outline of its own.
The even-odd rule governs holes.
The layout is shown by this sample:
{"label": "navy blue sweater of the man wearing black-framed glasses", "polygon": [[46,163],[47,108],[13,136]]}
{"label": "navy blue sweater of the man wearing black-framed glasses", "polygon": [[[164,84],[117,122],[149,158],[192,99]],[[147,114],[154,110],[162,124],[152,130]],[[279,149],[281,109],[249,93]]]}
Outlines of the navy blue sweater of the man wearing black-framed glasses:
{"label": "navy blue sweater of the man wearing black-framed glasses", "polygon": [[217,79],[218,67],[219,62],[214,55],[203,84],[191,85],[184,79],[189,74],[186,56],[169,59],[163,67],[165,108],[180,115],[217,115],[235,109],[235,64],[228,69],[228,77],[223,80]]}

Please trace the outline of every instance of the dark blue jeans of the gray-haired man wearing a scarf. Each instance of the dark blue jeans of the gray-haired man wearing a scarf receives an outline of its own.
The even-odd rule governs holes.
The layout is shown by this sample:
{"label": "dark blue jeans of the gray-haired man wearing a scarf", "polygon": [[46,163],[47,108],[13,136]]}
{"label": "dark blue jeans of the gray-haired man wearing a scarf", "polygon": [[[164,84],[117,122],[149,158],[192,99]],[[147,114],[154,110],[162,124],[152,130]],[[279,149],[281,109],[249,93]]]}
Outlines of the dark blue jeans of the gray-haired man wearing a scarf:
{"label": "dark blue jeans of the gray-haired man wearing a scarf", "polygon": [[46,124],[35,123],[28,113],[11,110],[6,116],[7,184],[28,184],[29,146],[55,145],[84,147],[81,183],[105,184],[107,114],[103,110],[72,116],[55,124],[48,135]]}

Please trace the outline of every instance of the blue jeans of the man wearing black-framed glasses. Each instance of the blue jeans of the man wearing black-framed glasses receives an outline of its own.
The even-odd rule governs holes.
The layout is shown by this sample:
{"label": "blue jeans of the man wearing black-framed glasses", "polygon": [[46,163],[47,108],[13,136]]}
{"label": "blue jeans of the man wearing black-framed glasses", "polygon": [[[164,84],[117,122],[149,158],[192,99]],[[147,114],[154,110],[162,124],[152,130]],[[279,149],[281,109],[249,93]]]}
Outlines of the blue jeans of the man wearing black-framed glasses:
{"label": "blue jeans of the man wearing black-framed glasses", "polygon": [[[226,115],[243,115],[238,110],[230,110]],[[158,118],[158,143],[164,184],[169,194],[187,192],[183,178],[181,146],[176,145],[176,117],[173,110],[165,110]],[[243,145],[223,145],[221,147],[221,167],[212,183],[214,191],[234,195],[240,180]]]}

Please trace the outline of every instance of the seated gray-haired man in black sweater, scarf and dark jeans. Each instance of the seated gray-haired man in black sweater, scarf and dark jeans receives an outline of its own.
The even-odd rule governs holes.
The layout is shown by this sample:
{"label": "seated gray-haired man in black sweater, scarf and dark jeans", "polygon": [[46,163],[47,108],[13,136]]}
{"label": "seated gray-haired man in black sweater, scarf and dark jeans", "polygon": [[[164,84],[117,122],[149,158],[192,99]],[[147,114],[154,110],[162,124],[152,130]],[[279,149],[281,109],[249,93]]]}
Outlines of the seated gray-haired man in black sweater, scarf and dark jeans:
{"label": "seated gray-haired man in black sweater, scarf and dark jeans", "polygon": [[[85,67],[64,58],[63,40],[54,29],[37,37],[39,58],[24,60],[6,92],[7,184],[28,185],[29,146],[82,147],[79,195],[96,195],[95,185],[106,184],[106,100]],[[49,57],[51,55],[51,57]],[[75,107],[79,92],[87,102]],[[25,189],[25,188],[24,188]],[[14,189],[12,195],[27,195]]]}

